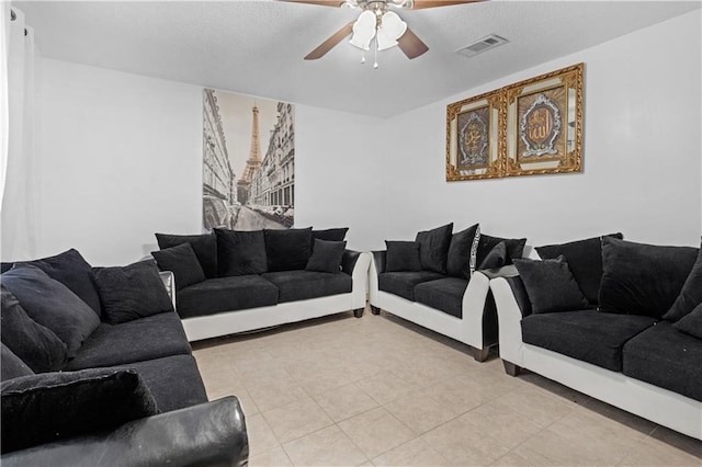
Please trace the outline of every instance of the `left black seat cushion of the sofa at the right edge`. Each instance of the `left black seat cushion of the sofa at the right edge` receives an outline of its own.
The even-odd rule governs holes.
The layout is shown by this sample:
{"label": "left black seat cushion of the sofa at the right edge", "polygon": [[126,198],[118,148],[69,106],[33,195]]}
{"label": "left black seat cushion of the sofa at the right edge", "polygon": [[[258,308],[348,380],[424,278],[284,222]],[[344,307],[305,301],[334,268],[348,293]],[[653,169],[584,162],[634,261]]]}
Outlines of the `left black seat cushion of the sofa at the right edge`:
{"label": "left black seat cushion of the sofa at the right edge", "polygon": [[622,348],[654,322],[645,316],[596,310],[530,315],[521,322],[522,341],[621,372]]}

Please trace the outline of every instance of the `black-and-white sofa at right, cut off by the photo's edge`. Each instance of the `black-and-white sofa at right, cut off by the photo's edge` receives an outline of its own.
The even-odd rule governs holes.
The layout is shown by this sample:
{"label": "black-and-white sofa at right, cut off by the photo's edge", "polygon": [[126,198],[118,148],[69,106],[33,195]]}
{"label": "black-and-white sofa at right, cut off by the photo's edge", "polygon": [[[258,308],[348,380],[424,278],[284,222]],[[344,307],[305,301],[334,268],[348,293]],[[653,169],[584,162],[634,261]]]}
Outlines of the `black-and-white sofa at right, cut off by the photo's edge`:
{"label": "black-and-white sofa at right, cut off by the photo's edge", "polygon": [[702,254],[619,234],[492,276],[500,357],[702,440]]}

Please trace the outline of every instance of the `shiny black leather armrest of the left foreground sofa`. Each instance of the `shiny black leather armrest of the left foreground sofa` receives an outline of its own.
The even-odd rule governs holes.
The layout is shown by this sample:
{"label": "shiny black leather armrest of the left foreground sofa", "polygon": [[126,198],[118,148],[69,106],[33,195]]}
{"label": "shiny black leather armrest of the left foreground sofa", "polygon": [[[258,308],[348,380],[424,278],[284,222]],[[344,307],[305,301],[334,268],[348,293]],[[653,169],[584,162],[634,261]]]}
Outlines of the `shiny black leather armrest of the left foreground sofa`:
{"label": "shiny black leather armrest of the left foreground sofa", "polygon": [[109,433],[77,436],[2,455],[10,466],[245,466],[249,442],[241,406],[214,402],[125,423]]}

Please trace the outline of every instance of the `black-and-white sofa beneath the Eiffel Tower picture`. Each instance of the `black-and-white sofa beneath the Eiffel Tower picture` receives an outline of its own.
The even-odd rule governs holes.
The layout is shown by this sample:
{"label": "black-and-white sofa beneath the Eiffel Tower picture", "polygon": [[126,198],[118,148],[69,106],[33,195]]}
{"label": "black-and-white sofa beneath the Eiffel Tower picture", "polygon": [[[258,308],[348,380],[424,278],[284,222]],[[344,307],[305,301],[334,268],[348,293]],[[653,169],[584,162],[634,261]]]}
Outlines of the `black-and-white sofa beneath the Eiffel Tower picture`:
{"label": "black-and-white sofa beneath the Eiffel Tower picture", "polygon": [[353,310],[363,316],[369,253],[348,228],[156,234],[159,267],[176,275],[176,310],[190,341]]}

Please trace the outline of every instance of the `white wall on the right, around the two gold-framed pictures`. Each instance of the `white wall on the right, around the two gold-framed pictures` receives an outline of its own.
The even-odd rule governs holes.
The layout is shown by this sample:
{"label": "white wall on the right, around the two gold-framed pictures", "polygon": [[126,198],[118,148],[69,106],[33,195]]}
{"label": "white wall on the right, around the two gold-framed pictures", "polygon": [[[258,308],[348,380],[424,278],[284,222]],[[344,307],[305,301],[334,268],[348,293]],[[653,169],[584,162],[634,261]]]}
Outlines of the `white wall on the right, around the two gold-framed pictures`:
{"label": "white wall on the right, around the two gold-framed pictures", "polygon": [[[534,246],[611,231],[699,246],[700,29],[698,10],[394,117],[384,171],[393,223],[382,238],[453,220]],[[446,104],[580,61],[582,173],[444,181]]]}

